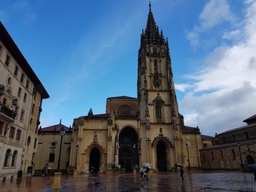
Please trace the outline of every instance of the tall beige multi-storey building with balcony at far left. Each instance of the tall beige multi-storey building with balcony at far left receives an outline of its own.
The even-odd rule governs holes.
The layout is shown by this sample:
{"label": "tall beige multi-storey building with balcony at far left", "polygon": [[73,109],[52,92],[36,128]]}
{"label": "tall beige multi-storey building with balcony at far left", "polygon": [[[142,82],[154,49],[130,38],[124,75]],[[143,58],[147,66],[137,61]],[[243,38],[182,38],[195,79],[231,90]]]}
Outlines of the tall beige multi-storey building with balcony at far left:
{"label": "tall beige multi-storey building with balcony at far left", "polygon": [[41,81],[0,22],[0,181],[32,173],[41,104],[47,98]]}

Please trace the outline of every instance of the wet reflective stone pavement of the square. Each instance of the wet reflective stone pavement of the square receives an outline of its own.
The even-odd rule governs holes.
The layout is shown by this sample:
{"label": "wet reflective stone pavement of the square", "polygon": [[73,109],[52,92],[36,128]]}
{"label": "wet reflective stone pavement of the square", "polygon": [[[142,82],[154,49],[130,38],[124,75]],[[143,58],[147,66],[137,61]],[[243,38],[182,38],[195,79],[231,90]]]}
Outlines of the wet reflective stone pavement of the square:
{"label": "wet reflective stone pavement of the square", "polygon": [[53,190],[52,184],[53,176],[23,177],[1,183],[0,191],[256,191],[254,176],[248,172],[184,172],[184,181],[179,172],[151,173],[149,181],[133,174],[62,175],[59,190]]}

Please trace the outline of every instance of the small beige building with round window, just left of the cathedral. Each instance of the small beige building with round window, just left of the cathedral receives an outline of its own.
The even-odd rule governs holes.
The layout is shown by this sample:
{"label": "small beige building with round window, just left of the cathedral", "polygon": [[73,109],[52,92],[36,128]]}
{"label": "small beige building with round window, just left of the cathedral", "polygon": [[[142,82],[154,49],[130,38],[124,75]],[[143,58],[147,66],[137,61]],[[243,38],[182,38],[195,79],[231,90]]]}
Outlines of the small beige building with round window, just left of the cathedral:
{"label": "small beige building with round window, just left of the cathedral", "polygon": [[[64,129],[64,136],[60,136],[60,130]],[[61,141],[62,140],[62,141]],[[72,143],[72,129],[59,124],[47,126],[38,130],[38,153],[35,155],[35,175],[41,175],[44,166],[56,171],[66,172],[69,167],[70,147]],[[61,148],[61,151],[60,151]],[[59,156],[60,152],[60,156]]]}

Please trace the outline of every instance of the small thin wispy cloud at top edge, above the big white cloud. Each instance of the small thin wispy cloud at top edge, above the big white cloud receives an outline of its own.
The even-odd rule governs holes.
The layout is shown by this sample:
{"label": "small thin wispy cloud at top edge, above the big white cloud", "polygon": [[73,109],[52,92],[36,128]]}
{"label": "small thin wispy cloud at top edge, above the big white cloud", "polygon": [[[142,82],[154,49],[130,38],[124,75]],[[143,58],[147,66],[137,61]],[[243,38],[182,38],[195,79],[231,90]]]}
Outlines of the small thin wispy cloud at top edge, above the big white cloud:
{"label": "small thin wispy cloud at top edge, above the big white cloud", "polygon": [[200,14],[200,21],[194,29],[187,34],[190,44],[197,47],[199,45],[200,33],[218,26],[221,23],[233,23],[233,14],[227,0],[210,0]]}

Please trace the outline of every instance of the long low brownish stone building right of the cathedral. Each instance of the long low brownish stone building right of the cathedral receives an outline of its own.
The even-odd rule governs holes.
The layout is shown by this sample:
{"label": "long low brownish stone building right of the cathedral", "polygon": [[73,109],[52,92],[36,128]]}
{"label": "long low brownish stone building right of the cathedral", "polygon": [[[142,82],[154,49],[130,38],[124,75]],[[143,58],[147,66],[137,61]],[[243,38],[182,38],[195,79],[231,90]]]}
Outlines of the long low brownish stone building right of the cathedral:
{"label": "long low brownish stone building right of the cathedral", "polygon": [[256,160],[256,115],[241,126],[216,134],[212,147],[200,150],[203,169],[247,169]]}

